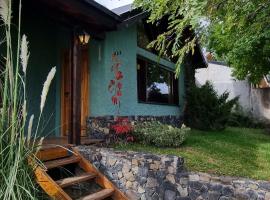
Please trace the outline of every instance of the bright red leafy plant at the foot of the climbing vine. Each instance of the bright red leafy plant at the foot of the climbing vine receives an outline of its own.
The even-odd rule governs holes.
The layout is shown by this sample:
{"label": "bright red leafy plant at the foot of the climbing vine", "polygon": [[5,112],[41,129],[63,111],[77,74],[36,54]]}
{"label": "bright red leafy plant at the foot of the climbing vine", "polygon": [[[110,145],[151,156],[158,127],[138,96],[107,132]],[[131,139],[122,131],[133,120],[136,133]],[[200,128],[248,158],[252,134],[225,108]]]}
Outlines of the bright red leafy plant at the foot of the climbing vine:
{"label": "bright red leafy plant at the foot of the climbing vine", "polygon": [[117,117],[115,124],[111,125],[111,130],[114,132],[114,141],[134,142],[132,136],[133,125],[128,118]]}

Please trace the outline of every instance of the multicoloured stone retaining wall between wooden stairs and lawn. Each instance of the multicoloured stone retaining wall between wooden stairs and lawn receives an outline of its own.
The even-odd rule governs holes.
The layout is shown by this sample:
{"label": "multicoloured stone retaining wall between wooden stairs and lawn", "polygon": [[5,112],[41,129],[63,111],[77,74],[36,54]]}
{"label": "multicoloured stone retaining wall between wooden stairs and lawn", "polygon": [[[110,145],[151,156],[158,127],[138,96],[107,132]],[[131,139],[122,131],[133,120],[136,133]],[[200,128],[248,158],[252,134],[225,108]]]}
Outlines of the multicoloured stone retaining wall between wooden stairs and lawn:
{"label": "multicoloured stone retaining wall between wooden stairs and lawn", "polygon": [[270,200],[270,182],[188,172],[181,157],[78,149],[130,199]]}

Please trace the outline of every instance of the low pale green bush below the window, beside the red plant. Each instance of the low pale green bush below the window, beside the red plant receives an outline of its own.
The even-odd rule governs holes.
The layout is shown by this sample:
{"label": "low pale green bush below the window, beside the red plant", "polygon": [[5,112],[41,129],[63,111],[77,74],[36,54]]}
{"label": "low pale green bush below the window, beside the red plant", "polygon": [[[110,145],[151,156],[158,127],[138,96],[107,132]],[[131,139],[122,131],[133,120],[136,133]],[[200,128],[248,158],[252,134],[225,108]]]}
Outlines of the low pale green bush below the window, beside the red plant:
{"label": "low pale green bush below the window, beside the red plant", "polygon": [[190,128],[165,125],[157,121],[142,122],[135,125],[133,135],[138,142],[159,147],[179,147],[186,139]]}

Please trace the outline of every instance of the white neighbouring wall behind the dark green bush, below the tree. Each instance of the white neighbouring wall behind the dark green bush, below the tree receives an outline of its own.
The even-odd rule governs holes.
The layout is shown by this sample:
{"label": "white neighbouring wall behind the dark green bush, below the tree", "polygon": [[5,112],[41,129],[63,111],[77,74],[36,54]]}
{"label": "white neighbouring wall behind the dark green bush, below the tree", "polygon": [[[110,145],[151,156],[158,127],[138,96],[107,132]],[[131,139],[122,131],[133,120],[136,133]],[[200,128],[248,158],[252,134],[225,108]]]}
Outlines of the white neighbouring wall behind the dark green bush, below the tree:
{"label": "white neighbouring wall behind the dark green bush, below the tree", "polygon": [[231,69],[220,63],[210,62],[207,68],[197,69],[195,74],[198,86],[208,80],[213,83],[218,94],[225,91],[230,98],[239,96],[240,105],[247,113],[259,120],[270,120],[270,88],[254,88],[248,81],[240,81],[232,77]]}

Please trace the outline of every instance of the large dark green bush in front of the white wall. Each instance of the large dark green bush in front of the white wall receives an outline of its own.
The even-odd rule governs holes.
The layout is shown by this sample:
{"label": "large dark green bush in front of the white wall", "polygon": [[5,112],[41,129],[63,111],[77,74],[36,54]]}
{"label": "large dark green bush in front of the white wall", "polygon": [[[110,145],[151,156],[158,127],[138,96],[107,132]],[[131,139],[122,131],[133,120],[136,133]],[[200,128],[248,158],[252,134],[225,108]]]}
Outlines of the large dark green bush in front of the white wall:
{"label": "large dark green bush in front of the white wall", "polygon": [[222,130],[231,117],[232,108],[238,97],[228,100],[229,93],[220,96],[210,82],[197,87],[192,85],[187,91],[185,123],[201,130]]}

